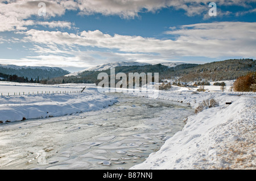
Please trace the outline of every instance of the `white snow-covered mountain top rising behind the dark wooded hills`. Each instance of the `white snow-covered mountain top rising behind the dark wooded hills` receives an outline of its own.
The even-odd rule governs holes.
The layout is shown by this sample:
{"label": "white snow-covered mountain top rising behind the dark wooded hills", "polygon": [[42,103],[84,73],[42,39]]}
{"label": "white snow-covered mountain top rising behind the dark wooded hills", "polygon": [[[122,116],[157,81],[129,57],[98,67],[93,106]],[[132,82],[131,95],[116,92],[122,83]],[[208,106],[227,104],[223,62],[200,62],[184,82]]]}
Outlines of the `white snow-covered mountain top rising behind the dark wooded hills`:
{"label": "white snow-covered mountain top rising behind the dark wooded hills", "polygon": [[93,68],[88,68],[85,70],[78,71],[76,73],[71,73],[68,75],[65,75],[65,77],[69,76],[77,76],[79,73],[82,73],[83,71],[102,71],[102,70],[108,70],[111,68],[117,68],[118,66],[143,66],[143,65],[151,65],[147,63],[142,63],[142,62],[135,62],[135,61],[129,61],[129,62],[111,62],[107,64],[101,64],[94,66]]}

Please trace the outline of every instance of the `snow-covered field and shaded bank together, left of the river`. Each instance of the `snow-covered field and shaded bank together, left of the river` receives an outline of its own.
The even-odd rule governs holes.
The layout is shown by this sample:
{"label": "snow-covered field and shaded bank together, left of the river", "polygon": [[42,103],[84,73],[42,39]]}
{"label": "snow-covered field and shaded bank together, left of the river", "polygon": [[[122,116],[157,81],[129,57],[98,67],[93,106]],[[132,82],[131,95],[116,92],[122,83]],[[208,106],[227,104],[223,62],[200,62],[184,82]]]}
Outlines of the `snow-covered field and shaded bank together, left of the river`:
{"label": "snow-covered field and shaded bank together, left of the river", "polygon": [[[86,86],[84,92],[73,93],[73,91],[80,92],[84,86]],[[15,89],[30,91],[30,95],[0,96],[0,121],[2,123],[95,111],[108,107],[117,101],[101,94],[93,85],[47,86],[22,83],[15,83],[14,85],[10,82],[1,82],[0,90],[3,92],[14,91]],[[51,94],[45,94],[46,90],[51,90]],[[66,94],[63,94],[64,90],[67,91]],[[60,91],[62,91],[61,94]]]}

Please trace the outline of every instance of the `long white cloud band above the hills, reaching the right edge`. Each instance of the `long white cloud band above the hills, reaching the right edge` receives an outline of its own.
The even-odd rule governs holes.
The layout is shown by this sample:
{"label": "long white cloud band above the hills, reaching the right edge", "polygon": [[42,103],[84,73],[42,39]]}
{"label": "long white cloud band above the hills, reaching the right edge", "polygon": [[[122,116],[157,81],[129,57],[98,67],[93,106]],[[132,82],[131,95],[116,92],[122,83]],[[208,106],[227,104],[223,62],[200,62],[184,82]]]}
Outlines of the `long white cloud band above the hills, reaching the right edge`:
{"label": "long white cloud band above the hills, reaching the right edge", "polygon": [[107,48],[119,53],[157,54],[175,56],[243,56],[255,57],[256,23],[216,22],[181,26],[167,31],[176,39],[160,40],[141,36],[124,36],[96,31],[67,33],[60,31],[29,30],[23,32],[24,41],[57,44],[70,47]]}

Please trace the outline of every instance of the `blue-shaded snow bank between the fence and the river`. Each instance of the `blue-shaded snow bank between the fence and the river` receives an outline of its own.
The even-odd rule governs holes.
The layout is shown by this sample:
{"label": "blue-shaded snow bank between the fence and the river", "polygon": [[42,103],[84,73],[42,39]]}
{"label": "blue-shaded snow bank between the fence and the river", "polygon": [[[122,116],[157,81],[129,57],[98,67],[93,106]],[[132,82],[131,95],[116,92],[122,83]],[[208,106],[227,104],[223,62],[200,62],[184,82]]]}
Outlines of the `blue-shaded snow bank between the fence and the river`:
{"label": "blue-shaded snow bank between the fence and the river", "polygon": [[95,111],[117,102],[96,88],[77,94],[0,96],[0,121],[20,121]]}

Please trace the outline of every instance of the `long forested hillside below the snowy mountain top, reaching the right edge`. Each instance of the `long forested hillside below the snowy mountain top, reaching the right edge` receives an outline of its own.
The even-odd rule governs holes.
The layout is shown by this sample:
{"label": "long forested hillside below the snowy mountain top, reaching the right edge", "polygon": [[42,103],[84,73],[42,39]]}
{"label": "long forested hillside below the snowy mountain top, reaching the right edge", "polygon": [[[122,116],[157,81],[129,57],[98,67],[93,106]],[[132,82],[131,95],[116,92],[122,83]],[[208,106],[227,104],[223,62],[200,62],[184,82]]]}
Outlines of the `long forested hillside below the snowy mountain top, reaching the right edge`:
{"label": "long forested hillside below the snowy mountain top, reaching the right edge", "polygon": [[[207,64],[179,64],[175,66],[156,65],[134,65],[117,66],[115,74],[126,73],[159,73],[159,79],[176,79],[180,82],[199,81],[225,81],[237,79],[242,75],[256,70],[255,60],[239,59],[216,61]],[[99,73],[105,72],[110,75],[110,69],[101,71],[81,71],[68,77],[58,77],[49,80],[47,83],[97,83]],[[127,76],[128,77],[128,76]]]}

